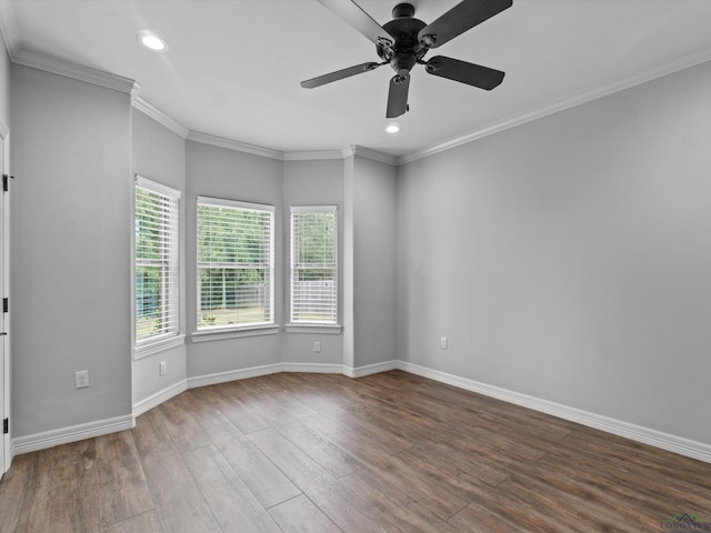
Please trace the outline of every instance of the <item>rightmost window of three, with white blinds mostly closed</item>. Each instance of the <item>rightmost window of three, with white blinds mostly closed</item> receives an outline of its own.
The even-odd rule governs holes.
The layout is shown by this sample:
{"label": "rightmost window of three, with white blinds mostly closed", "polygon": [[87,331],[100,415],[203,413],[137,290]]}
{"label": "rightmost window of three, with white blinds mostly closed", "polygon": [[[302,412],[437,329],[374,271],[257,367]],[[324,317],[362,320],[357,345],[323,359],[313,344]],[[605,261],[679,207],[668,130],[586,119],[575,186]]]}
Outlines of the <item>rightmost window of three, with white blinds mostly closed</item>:
{"label": "rightmost window of three, with white blinds mostly closed", "polygon": [[291,323],[337,322],[337,208],[291,208]]}

